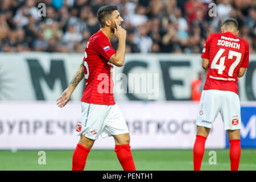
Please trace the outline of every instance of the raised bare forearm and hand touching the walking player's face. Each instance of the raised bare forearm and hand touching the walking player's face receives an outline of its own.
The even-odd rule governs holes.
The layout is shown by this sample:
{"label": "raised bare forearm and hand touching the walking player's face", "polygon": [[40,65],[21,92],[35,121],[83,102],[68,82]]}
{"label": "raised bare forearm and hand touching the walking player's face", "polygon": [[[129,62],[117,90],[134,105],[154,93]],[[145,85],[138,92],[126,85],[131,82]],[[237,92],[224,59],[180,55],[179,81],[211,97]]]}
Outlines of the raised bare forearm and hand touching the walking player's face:
{"label": "raised bare forearm and hand touching the walking player's face", "polygon": [[115,20],[115,25],[117,28],[114,29],[114,35],[118,38],[118,48],[117,52],[109,58],[109,62],[117,67],[122,67],[125,62],[126,30],[118,24],[117,20]]}

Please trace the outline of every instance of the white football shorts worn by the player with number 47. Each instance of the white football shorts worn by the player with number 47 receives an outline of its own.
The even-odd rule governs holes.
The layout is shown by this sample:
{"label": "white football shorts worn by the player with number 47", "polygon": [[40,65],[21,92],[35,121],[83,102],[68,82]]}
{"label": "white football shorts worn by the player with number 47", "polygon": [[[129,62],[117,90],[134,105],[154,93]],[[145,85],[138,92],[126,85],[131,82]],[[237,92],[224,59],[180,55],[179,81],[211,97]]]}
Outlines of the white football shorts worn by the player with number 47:
{"label": "white football shorts worn by the player with number 47", "polygon": [[196,125],[211,128],[218,113],[224,130],[241,129],[241,106],[236,93],[223,90],[203,90]]}

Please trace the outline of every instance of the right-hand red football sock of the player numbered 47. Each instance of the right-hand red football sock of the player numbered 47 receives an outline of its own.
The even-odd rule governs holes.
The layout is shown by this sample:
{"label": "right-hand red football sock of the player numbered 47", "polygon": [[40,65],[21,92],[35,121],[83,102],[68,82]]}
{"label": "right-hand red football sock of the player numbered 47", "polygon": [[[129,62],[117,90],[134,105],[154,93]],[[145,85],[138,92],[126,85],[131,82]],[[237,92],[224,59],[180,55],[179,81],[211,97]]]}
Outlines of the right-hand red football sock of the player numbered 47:
{"label": "right-hand red football sock of the player numbered 47", "polygon": [[237,171],[241,156],[240,139],[230,140],[229,158],[231,171]]}

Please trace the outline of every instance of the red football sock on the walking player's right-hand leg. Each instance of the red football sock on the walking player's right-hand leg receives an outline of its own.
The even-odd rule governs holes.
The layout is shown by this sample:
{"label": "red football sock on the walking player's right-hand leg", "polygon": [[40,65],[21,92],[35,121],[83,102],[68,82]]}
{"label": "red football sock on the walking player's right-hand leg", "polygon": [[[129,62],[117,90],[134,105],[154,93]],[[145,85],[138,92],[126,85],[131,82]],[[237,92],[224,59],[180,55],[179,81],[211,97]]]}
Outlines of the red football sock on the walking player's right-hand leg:
{"label": "red football sock on the walking player's right-hand leg", "polygon": [[117,158],[124,171],[136,171],[130,148],[130,144],[115,145],[114,152],[117,152]]}

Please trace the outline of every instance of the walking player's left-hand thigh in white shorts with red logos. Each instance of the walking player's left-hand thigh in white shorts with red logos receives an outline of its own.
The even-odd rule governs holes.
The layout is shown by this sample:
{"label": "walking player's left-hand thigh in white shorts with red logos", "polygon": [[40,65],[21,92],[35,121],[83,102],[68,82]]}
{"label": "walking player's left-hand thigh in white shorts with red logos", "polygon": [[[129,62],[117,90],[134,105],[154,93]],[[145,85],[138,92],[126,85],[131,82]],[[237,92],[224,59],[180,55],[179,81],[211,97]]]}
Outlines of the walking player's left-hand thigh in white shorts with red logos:
{"label": "walking player's left-hand thigh in white shorts with red logos", "polygon": [[105,126],[107,105],[88,104],[82,102],[82,117],[77,125],[76,135],[96,140]]}

